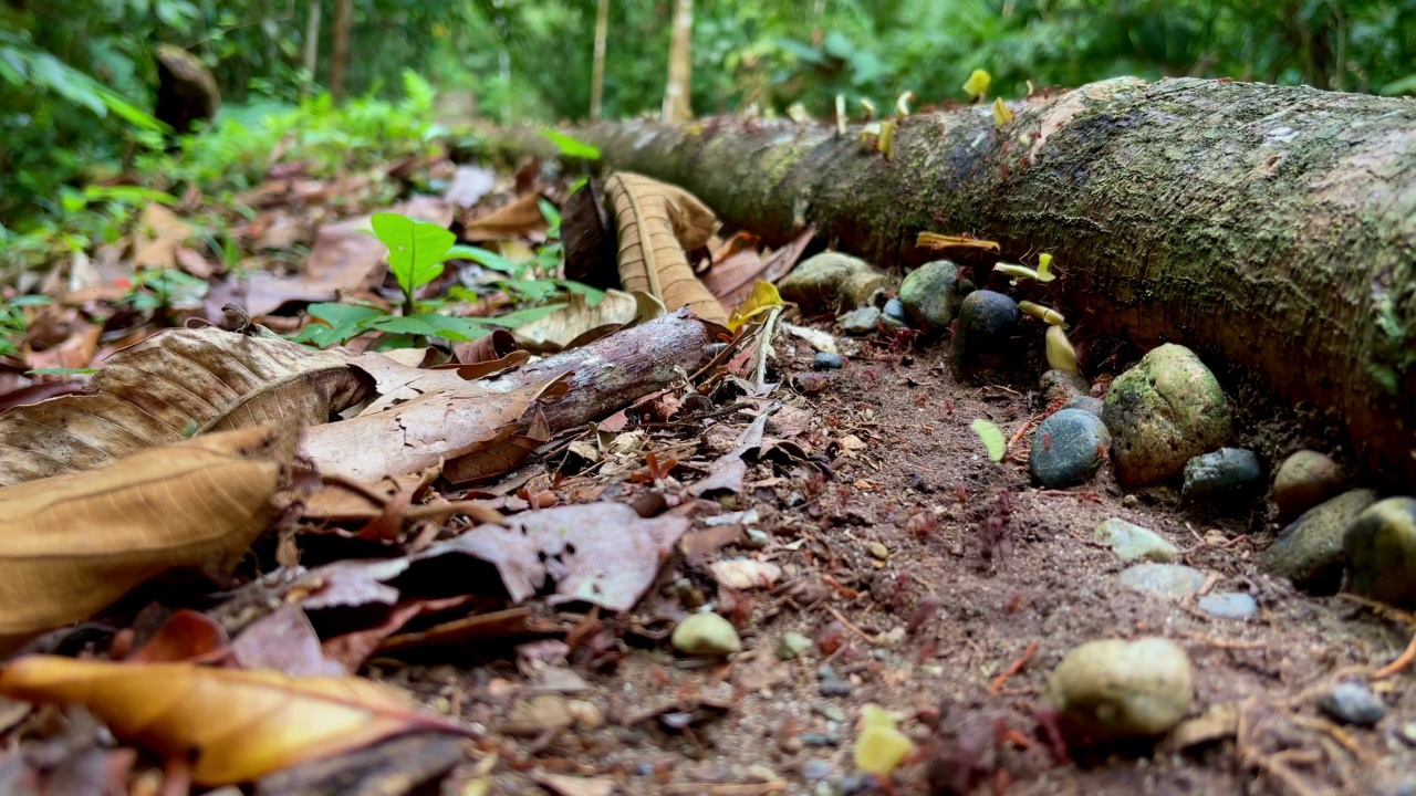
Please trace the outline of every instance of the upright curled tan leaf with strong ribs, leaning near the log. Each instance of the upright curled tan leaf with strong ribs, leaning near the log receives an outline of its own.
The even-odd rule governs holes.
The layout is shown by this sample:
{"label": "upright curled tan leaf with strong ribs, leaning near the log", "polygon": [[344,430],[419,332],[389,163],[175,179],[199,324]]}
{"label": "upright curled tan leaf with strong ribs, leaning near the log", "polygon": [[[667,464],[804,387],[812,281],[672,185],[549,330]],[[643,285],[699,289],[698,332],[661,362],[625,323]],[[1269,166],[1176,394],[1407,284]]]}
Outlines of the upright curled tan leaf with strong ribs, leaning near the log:
{"label": "upright curled tan leaf with strong ribs, leaning near the log", "polygon": [[605,181],[605,201],[619,229],[620,285],[688,307],[704,320],[726,323],[718,299],[694,276],[685,249],[702,246],[718,225],[711,210],[688,191],[620,171]]}

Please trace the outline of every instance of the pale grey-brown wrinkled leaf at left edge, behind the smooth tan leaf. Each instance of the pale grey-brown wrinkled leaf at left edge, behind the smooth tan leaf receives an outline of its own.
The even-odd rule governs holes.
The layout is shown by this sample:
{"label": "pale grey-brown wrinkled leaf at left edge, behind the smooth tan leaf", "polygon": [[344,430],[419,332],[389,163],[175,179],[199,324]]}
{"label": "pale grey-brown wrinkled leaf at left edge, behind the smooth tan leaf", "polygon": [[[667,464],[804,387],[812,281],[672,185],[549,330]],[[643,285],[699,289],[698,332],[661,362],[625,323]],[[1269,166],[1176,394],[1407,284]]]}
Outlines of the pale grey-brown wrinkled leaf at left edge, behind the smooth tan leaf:
{"label": "pale grey-brown wrinkled leaf at left edge, behind the smooth tan leaf", "polygon": [[161,331],[109,358],[88,394],[0,415],[0,486],[102,467],[200,432],[323,423],[368,395],[351,358],[215,327]]}

